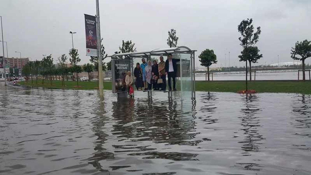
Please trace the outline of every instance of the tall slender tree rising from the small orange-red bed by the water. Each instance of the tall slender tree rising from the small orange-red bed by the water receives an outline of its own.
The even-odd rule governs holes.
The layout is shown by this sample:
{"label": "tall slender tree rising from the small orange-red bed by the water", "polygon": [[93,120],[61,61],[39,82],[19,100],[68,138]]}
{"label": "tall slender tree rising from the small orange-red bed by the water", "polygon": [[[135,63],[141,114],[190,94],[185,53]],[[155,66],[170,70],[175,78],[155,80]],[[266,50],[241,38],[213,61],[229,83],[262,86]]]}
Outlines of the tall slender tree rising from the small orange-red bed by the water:
{"label": "tall slender tree rising from the small orange-red bed by the water", "polygon": [[257,27],[257,31],[254,33],[254,26],[253,26],[253,19],[242,20],[241,23],[238,25],[238,31],[241,33],[242,37],[239,37],[239,40],[241,41],[241,46],[243,47],[243,50],[246,51],[244,56],[246,56],[245,60],[245,84],[246,84],[246,90],[248,90],[247,87],[247,60],[248,60],[248,47],[254,46],[259,39],[259,35],[261,33],[260,26]]}

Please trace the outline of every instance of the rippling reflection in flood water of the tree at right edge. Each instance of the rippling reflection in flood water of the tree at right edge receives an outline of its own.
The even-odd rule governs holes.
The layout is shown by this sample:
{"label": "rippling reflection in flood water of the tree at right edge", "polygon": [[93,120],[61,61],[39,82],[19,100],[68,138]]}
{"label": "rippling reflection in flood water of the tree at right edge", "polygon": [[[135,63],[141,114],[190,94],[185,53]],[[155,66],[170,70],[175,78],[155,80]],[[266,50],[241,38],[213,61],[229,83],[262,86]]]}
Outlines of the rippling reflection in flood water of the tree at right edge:
{"label": "rippling reflection in flood water of the tree at right edge", "polygon": [[311,96],[299,94],[292,105],[296,128],[311,128]]}

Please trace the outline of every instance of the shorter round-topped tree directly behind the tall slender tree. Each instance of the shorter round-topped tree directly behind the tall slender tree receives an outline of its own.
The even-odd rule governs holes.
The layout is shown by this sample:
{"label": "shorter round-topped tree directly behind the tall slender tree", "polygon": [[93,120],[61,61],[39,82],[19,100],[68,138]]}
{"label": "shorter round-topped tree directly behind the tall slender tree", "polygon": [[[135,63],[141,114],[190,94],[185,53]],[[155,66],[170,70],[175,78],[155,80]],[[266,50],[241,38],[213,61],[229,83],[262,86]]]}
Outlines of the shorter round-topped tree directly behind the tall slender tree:
{"label": "shorter round-topped tree directly behind the tall slender tree", "polygon": [[249,80],[252,81],[252,63],[258,63],[257,60],[262,58],[262,54],[259,54],[260,50],[257,46],[249,46],[245,48],[241,55],[239,61],[247,61],[249,62]]}

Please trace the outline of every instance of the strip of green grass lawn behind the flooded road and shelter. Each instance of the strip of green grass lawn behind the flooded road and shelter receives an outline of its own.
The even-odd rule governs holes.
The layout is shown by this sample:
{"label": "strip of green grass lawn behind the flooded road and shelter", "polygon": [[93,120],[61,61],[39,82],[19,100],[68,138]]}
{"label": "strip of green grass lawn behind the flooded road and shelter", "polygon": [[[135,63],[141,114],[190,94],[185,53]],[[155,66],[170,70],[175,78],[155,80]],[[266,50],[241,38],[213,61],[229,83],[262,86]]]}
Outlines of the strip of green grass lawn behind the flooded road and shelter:
{"label": "strip of green grass lawn behind the flooded road and shelter", "polygon": [[[54,80],[52,86],[50,81],[45,81],[42,85],[42,80],[38,80],[38,84],[33,81],[26,83],[19,82],[22,85],[46,87],[54,89],[79,89],[93,90],[97,89],[97,82],[80,82],[77,87],[77,82],[65,81],[65,87],[62,87],[62,82]],[[178,86],[177,86],[178,87]],[[248,82],[248,88],[257,92],[285,92],[285,93],[302,93],[311,94],[311,81],[252,81]],[[111,90],[112,83],[104,82],[104,89]],[[211,91],[211,92],[237,92],[245,89],[245,81],[197,81],[196,91]]]}

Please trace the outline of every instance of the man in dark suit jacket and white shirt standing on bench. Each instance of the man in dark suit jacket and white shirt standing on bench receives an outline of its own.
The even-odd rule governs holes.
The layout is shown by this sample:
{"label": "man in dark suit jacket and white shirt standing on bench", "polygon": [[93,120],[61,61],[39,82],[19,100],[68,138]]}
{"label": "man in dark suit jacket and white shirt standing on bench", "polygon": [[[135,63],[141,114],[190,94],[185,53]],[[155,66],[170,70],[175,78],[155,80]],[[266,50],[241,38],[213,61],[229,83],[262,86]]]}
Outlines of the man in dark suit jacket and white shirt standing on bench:
{"label": "man in dark suit jacket and white shirt standing on bench", "polygon": [[169,54],[168,59],[165,61],[165,74],[167,75],[169,81],[169,91],[172,90],[171,78],[173,79],[173,90],[176,91],[176,59],[172,58],[173,55]]}

